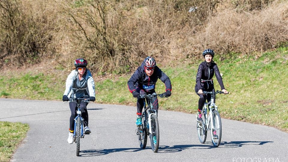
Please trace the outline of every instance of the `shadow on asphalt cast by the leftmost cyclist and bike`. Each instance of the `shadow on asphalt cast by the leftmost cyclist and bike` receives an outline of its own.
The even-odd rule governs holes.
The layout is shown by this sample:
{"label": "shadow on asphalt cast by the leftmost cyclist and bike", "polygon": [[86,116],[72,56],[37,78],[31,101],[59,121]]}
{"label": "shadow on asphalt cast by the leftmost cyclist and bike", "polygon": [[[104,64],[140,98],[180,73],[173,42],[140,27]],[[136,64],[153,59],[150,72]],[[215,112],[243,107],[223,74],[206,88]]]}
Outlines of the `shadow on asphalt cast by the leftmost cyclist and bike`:
{"label": "shadow on asphalt cast by the leftmost cyclist and bike", "polygon": [[[147,147],[146,147],[147,148]],[[82,150],[81,153],[84,153],[79,156],[88,157],[88,156],[100,156],[106,155],[113,152],[138,152],[143,149],[140,148],[119,148],[119,149],[93,149],[93,150]]]}

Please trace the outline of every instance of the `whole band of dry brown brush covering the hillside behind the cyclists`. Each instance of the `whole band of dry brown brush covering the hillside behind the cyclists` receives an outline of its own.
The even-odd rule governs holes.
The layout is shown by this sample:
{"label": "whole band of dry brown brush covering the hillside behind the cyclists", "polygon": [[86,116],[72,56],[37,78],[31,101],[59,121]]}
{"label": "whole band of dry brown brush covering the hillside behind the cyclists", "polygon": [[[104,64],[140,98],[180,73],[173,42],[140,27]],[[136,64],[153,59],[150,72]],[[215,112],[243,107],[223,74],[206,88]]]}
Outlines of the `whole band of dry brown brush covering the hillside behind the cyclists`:
{"label": "whole band of dry brown brush covering the hillside behind the cyclists", "polygon": [[75,58],[84,57],[94,72],[117,74],[134,69],[147,55],[164,63],[195,59],[209,47],[224,59],[231,52],[251,54],[288,41],[287,1],[0,0],[0,4],[4,22],[0,64],[22,66],[54,58],[52,67],[71,69]]}

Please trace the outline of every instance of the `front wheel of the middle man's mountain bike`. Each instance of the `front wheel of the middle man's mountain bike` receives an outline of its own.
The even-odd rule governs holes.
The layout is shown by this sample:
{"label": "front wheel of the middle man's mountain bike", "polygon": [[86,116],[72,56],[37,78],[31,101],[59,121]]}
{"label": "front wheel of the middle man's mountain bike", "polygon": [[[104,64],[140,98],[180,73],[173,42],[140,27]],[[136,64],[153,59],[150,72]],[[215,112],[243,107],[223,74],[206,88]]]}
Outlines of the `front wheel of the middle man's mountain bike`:
{"label": "front wheel of the middle man's mountain bike", "polygon": [[[157,152],[159,148],[159,122],[158,117],[155,114],[151,115],[151,125],[152,134],[150,134],[151,149],[153,152]],[[154,144],[153,137],[156,136],[156,143]]]}

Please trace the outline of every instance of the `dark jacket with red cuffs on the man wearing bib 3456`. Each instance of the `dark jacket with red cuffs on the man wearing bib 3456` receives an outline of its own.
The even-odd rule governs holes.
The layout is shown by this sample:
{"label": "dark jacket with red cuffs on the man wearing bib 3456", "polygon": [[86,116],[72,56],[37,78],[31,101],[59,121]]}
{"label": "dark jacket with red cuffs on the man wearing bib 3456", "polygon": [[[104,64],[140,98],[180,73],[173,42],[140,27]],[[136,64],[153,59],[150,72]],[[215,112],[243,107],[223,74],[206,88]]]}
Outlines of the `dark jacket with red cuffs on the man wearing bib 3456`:
{"label": "dark jacket with red cuffs on the man wearing bib 3456", "polygon": [[144,71],[144,63],[137,68],[131,78],[128,80],[128,88],[129,91],[132,93],[136,91],[136,88],[139,87],[146,92],[154,91],[155,84],[158,78],[164,82],[166,91],[172,91],[172,85],[169,77],[161,70],[158,66],[155,66],[154,73],[152,76],[148,76]]}

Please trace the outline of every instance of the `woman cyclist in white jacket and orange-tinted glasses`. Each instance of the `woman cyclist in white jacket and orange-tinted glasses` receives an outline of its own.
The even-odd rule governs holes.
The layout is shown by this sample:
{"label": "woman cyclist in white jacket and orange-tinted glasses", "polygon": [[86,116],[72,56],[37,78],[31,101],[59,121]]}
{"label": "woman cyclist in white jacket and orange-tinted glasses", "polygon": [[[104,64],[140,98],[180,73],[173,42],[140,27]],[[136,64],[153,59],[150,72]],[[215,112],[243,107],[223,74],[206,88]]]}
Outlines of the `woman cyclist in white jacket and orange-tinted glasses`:
{"label": "woman cyclist in white jacket and orange-tinted glasses", "polygon": [[[69,98],[89,98],[90,101],[95,101],[95,83],[90,70],[86,68],[88,62],[83,58],[77,58],[74,61],[75,70],[71,71],[66,79],[66,89],[63,95],[63,101],[69,101]],[[84,133],[90,134],[91,131],[88,127],[88,102],[80,102],[81,116],[84,119]],[[73,143],[74,133],[74,119],[77,116],[77,104],[75,102],[69,102],[71,110],[70,116],[70,128],[67,142]]]}

